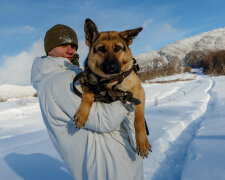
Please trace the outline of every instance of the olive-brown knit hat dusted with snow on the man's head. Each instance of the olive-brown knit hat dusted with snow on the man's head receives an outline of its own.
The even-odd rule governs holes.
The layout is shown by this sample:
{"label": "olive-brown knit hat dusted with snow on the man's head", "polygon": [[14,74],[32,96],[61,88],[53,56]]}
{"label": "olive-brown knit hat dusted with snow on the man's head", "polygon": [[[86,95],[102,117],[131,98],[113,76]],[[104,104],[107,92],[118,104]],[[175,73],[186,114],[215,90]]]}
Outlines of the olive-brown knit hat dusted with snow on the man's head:
{"label": "olive-brown knit hat dusted with snow on the man's head", "polygon": [[77,35],[75,31],[68,26],[57,24],[50,28],[45,34],[44,46],[46,54],[53,48],[67,43],[75,45],[77,50]]}

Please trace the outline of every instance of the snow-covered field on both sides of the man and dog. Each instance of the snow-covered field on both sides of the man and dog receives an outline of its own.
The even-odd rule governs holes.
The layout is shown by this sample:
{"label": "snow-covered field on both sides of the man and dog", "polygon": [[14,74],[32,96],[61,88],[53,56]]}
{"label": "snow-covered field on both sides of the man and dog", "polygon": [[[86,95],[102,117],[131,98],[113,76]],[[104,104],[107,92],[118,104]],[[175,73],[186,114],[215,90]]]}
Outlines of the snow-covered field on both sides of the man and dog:
{"label": "snow-covered field on both sides of the man and dog", "polygon": [[[144,88],[153,150],[145,180],[225,180],[225,76],[179,74]],[[72,180],[37,98],[16,97],[0,103],[0,180]]]}

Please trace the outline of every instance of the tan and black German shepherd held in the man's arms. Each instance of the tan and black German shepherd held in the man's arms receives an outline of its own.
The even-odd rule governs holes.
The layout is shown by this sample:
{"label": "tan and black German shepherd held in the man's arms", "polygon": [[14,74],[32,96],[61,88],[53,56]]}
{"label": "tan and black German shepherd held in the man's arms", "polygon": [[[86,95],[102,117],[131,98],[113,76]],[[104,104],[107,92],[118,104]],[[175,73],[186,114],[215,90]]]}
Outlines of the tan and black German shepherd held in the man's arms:
{"label": "tan and black German shepherd held in the man's arms", "polygon": [[[86,19],[84,24],[86,44],[89,47],[89,54],[85,62],[85,70],[89,69],[92,74],[109,79],[112,76],[121,74],[133,67],[132,53],[129,48],[133,39],[142,30],[142,27],[123,32],[107,31],[98,32],[98,28],[91,19]],[[84,70],[84,71],[85,71]],[[82,128],[88,119],[91,106],[94,102],[95,93],[91,88],[85,86],[90,78],[88,73],[81,77],[82,86],[81,105],[74,116],[75,124]],[[114,83],[107,84],[107,88],[112,89]],[[141,82],[132,70],[131,73],[116,86],[120,91],[129,91],[133,97],[139,99],[141,103],[134,106],[135,119],[134,127],[136,133],[137,153],[143,158],[147,157],[151,146],[148,142],[145,120],[144,106],[145,94]]]}

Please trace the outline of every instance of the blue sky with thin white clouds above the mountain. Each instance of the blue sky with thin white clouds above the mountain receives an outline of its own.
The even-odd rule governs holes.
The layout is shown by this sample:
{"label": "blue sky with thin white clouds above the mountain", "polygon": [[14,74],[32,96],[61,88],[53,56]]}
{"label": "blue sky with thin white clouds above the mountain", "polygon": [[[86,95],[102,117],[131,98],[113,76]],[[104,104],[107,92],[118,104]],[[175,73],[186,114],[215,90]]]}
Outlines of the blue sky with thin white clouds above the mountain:
{"label": "blue sky with thin white clouds above the mountain", "polygon": [[86,18],[99,31],[143,27],[130,46],[135,56],[225,27],[224,7],[223,0],[0,0],[0,76],[12,59],[15,67],[20,63],[21,54],[44,55],[45,32],[56,24],[76,31],[82,64],[88,52],[83,30]]}

